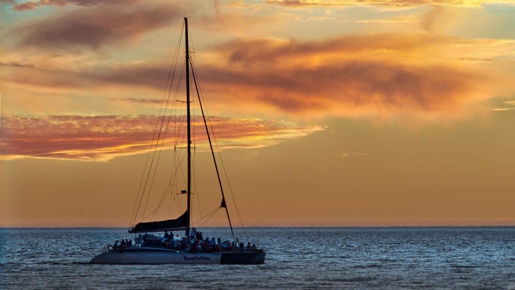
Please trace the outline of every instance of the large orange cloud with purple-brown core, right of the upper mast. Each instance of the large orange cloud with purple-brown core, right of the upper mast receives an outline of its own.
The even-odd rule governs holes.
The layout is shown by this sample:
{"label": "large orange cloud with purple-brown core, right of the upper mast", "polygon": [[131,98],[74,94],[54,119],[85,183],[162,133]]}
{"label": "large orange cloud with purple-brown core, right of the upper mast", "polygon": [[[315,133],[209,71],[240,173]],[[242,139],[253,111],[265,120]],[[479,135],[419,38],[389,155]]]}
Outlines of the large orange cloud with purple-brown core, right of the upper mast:
{"label": "large orange cloud with purple-brown core, right of the upper mast", "polygon": [[[225,63],[198,72],[213,92],[297,115],[454,116],[464,104],[495,95],[488,83],[496,80],[451,59],[488,59],[486,48],[495,57],[500,43],[393,33],[311,42],[235,40],[217,47]],[[501,46],[509,51],[513,42]]]}

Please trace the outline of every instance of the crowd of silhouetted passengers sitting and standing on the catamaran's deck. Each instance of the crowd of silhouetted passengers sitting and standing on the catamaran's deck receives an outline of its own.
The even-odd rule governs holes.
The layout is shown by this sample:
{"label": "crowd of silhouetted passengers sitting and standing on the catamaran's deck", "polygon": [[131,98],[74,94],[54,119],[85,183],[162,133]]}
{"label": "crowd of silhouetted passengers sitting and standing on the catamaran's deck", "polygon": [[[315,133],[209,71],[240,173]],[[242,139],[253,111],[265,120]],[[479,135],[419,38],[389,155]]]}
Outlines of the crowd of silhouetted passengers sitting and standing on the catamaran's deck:
{"label": "crowd of silhouetted passengers sitting and standing on the catamaran's deck", "polygon": [[[215,240],[214,237],[210,238],[206,237],[205,239],[202,236],[202,232],[198,232],[195,228],[190,231],[190,239],[194,240],[192,243],[191,240],[181,239],[179,235],[177,235],[177,239],[174,238],[174,234],[172,232],[168,233],[164,232],[163,238],[161,238],[160,246],[167,247],[173,250],[180,250],[184,252],[221,252],[221,251],[255,251],[257,250],[256,245],[250,245],[247,243],[245,246],[243,243],[239,243],[236,240],[236,244],[234,242],[224,241],[222,242],[220,238]],[[116,241],[113,245],[113,250],[125,250],[126,248],[131,247],[143,247],[145,243],[148,241],[148,235],[139,234],[138,237],[134,239],[134,244],[132,240],[123,239],[121,243]],[[152,246],[157,246],[155,243],[152,243]]]}

